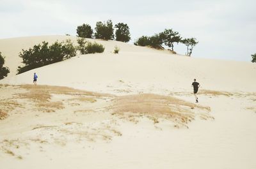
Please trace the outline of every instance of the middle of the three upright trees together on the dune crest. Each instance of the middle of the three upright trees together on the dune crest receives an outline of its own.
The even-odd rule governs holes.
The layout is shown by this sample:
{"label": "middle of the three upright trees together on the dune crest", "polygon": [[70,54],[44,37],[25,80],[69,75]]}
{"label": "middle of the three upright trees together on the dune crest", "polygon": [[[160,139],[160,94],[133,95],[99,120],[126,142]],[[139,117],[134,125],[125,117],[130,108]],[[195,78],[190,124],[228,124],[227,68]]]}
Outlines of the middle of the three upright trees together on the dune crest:
{"label": "middle of the three upright trees together on the dune crest", "polygon": [[112,21],[108,20],[107,22],[97,22],[94,36],[96,39],[113,40],[114,29]]}

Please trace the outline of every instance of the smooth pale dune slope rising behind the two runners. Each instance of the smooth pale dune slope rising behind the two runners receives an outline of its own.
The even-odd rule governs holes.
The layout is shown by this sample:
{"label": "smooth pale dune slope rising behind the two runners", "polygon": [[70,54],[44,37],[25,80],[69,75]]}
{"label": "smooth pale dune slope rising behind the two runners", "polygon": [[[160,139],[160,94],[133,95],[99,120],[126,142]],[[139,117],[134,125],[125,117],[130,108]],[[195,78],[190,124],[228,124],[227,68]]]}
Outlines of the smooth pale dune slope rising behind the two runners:
{"label": "smooth pale dune slope rising behind the two runners", "polygon": [[[13,68],[20,64],[20,60],[17,59],[20,48],[28,48],[32,44],[31,41],[38,43],[44,38],[45,41],[76,39],[72,36],[38,36],[0,40],[0,47],[4,49],[3,54],[6,55],[6,66],[12,70],[10,78],[2,80],[1,83],[29,84],[33,72],[36,72],[39,84],[65,85],[112,93],[115,91],[111,88],[132,92],[138,92],[134,91],[138,88],[152,92],[163,89],[188,91],[193,78],[197,78],[204,89],[256,91],[256,65],[250,62],[195,59],[147,47],[99,40],[97,42],[106,47],[104,54],[79,55],[13,77]],[[120,47],[120,54],[113,54],[115,45]],[[119,80],[129,83],[131,87],[120,85]]]}

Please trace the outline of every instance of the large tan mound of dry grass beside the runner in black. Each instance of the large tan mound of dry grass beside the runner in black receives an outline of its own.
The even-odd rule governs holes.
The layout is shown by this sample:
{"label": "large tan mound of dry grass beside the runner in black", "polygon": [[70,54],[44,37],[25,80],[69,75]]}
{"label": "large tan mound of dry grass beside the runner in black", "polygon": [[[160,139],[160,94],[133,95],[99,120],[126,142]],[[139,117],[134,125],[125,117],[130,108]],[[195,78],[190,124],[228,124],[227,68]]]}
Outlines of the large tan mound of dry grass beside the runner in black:
{"label": "large tan mound of dry grass beside the runner in black", "polygon": [[195,119],[195,113],[192,112],[195,108],[204,110],[207,114],[211,110],[209,107],[197,106],[181,99],[157,94],[122,96],[114,99],[111,108],[113,114],[127,116],[127,119],[140,117],[143,114],[154,123],[158,123],[159,118],[164,118],[179,124],[187,124]]}

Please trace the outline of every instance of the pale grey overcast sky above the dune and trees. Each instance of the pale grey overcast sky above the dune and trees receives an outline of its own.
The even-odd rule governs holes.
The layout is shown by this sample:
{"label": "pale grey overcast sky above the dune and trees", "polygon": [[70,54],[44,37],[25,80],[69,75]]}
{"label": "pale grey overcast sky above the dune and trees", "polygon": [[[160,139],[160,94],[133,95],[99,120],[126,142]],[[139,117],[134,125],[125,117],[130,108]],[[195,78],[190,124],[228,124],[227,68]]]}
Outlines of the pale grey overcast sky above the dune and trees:
{"label": "pale grey overcast sky above the dune and trees", "polygon": [[[132,42],[172,28],[199,41],[193,57],[251,61],[256,53],[255,0],[0,0],[0,38],[71,34],[86,23],[127,23]],[[0,49],[1,50],[1,49]],[[122,49],[121,49],[122,50]],[[185,54],[186,46],[174,46]]]}

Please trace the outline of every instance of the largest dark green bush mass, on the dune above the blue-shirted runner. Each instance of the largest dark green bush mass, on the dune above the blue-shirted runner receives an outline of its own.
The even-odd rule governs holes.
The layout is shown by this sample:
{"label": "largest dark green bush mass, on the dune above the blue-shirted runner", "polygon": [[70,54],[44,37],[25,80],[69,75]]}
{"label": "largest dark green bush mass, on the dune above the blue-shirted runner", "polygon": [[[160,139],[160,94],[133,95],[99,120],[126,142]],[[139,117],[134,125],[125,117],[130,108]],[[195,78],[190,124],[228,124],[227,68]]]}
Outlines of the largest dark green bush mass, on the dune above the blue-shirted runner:
{"label": "largest dark green bush mass, on the dune above the blue-shirted runner", "polygon": [[49,46],[48,42],[43,41],[42,45],[34,45],[34,47],[29,48],[29,50],[22,49],[19,57],[22,58],[24,66],[19,66],[18,74],[47,64],[63,61],[75,55],[76,47],[74,47],[71,40],[65,42],[55,41],[51,46]]}

